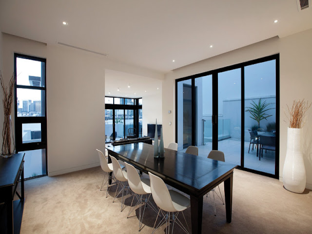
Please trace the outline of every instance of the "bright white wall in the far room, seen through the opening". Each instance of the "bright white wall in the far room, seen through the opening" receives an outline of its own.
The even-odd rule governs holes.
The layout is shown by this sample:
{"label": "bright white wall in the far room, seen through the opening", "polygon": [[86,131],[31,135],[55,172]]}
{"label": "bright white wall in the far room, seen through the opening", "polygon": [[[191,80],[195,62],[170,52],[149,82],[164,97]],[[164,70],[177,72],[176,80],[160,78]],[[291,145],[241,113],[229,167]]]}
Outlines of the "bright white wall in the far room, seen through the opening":
{"label": "bright white wall in the far room, seen through the opening", "polygon": [[[161,91],[161,90],[160,90]],[[161,92],[142,98],[142,135],[147,136],[147,124],[162,124]]]}

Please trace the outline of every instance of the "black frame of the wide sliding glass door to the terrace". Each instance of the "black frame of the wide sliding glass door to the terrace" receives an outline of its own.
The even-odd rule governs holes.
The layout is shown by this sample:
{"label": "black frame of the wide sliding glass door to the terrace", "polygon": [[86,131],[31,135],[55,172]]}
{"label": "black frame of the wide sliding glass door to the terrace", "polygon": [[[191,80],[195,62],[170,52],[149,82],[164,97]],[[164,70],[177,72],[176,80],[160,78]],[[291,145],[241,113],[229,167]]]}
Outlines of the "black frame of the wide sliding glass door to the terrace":
{"label": "black frame of the wide sliding glass door to the terrace", "polygon": [[[176,90],[176,142],[177,142],[177,107],[178,107],[178,102],[177,102],[177,84],[180,81],[183,80],[191,80],[192,82],[192,93],[193,93],[193,98],[195,96],[195,78],[200,78],[200,77],[205,77],[205,76],[209,76],[212,75],[212,96],[213,96],[213,115],[212,115],[212,122],[213,122],[213,142],[212,142],[212,148],[213,150],[217,150],[218,149],[218,73],[220,72],[225,72],[225,71],[229,71],[229,70],[234,70],[234,69],[241,69],[241,126],[245,126],[245,102],[243,100],[245,100],[245,73],[244,73],[244,67],[245,66],[249,66],[249,65],[253,65],[256,63],[261,63],[261,62],[265,62],[265,61],[269,61],[269,60],[274,60],[276,61],[275,63],[275,74],[276,74],[276,78],[275,78],[275,82],[276,82],[276,110],[275,110],[275,114],[276,114],[276,145],[275,145],[275,175],[273,174],[269,174],[269,173],[265,173],[265,172],[260,172],[260,171],[256,171],[253,169],[249,169],[249,168],[245,168],[244,167],[244,128],[241,127],[241,166],[238,166],[239,169],[242,169],[244,171],[249,171],[249,172],[253,172],[256,174],[260,174],[260,175],[264,175],[264,176],[269,176],[269,177],[273,177],[273,178],[279,178],[279,118],[280,118],[280,92],[279,92],[279,54],[275,54],[275,55],[271,55],[271,56],[267,56],[264,58],[260,58],[260,59],[254,59],[251,61],[247,61],[247,62],[242,62],[242,63],[238,63],[235,65],[231,65],[231,66],[227,66],[227,67],[223,67],[223,68],[219,68],[219,69],[215,69],[212,71],[208,71],[208,72],[203,72],[203,73],[199,73],[199,74],[195,74],[189,77],[185,77],[185,78],[179,78],[176,79],[176,84],[175,84],[175,90]],[[193,119],[195,119],[195,99],[192,99],[192,117]],[[196,119],[195,119],[196,121]],[[195,121],[193,121],[193,126],[192,126],[192,144],[195,145],[195,134],[196,134],[196,123]]]}

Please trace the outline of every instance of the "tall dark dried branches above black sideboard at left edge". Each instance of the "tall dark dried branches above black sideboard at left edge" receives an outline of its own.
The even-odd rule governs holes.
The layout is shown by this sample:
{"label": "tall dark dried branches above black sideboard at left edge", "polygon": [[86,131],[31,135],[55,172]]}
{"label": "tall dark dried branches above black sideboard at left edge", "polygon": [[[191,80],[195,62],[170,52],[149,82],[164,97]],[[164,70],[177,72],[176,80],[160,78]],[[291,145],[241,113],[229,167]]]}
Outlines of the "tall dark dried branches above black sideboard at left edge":
{"label": "tall dark dried branches above black sideboard at left edge", "polygon": [[[3,111],[4,111],[4,122],[3,122],[3,129],[2,129],[2,155],[10,155],[11,152],[11,110],[12,110],[12,103],[13,103],[13,91],[14,91],[14,84],[15,84],[15,76],[14,73],[10,79],[9,87],[5,87],[3,83],[2,74],[0,71],[0,81],[1,87],[3,91]],[[8,89],[9,88],[9,89]],[[13,143],[15,148],[15,142],[13,137]]]}

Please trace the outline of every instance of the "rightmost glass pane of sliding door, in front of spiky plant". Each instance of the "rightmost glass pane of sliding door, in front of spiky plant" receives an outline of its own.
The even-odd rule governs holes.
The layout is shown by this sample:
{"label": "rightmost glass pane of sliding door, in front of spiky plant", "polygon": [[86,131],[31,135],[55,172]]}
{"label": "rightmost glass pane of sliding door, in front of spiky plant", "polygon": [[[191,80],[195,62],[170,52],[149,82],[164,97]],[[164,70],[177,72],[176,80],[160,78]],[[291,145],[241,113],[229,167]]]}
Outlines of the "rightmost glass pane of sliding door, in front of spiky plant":
{"label": "rightmost glass pane of sliding door, in front of spiky plant", "polygon": [[252,104],[258,105],[261,99],[261,103],[269,104],[266,109],[270,110],[262,113],[269,117],[260,122],[254,120],[249,112],[245,112],[244,166],[273,175],[275,174],[275,151],[264,150],[259,160],[259,152],[257,154],[256,149],[264,139],[267,139],[266,144],[273,146],[270,148],[274,148],[276,143],[274,135],[276,123],[275,63],[274,59],[245,67],[245,108],[252,107]]}

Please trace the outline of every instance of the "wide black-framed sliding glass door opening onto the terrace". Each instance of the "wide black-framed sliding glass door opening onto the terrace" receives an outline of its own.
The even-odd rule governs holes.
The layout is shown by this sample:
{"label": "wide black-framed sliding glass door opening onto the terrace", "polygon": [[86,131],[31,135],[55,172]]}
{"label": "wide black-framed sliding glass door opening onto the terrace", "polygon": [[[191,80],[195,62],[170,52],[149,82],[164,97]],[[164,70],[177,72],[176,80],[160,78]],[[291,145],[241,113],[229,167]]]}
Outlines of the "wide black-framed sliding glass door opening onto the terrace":
{"label": "wide black-framed sliding glass door opening onto the terrace", "polygon": [[247,171],[279,176],[279,55],[176,80],[178,150],[220,150]]}

